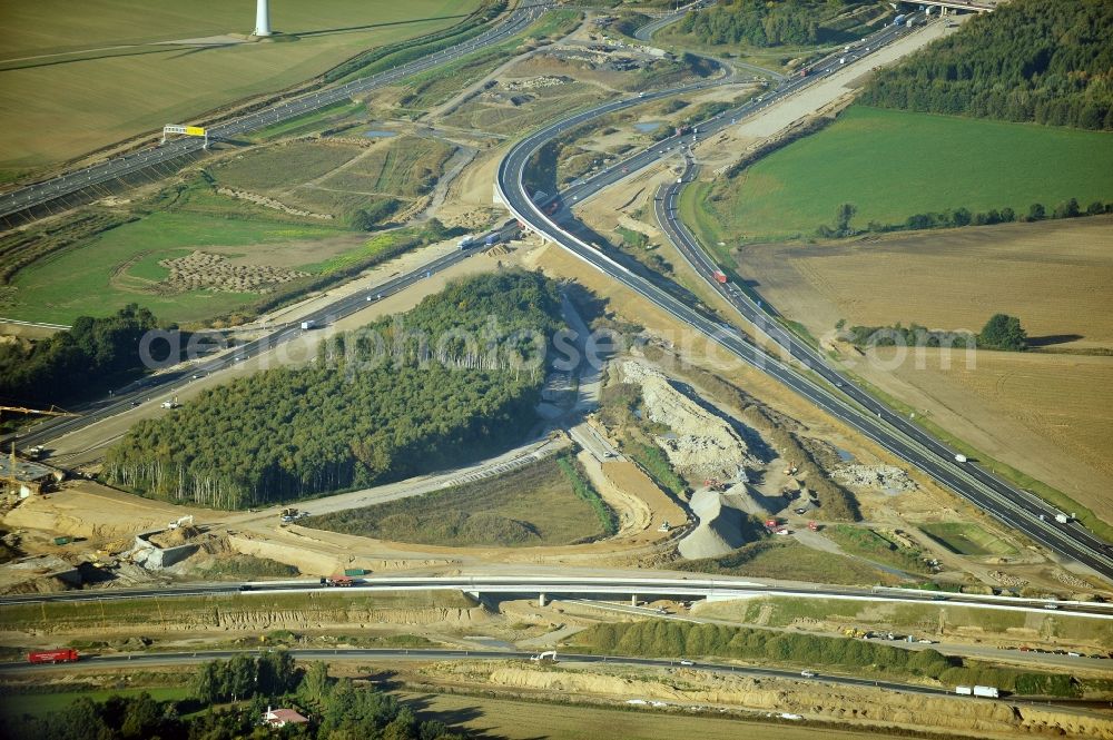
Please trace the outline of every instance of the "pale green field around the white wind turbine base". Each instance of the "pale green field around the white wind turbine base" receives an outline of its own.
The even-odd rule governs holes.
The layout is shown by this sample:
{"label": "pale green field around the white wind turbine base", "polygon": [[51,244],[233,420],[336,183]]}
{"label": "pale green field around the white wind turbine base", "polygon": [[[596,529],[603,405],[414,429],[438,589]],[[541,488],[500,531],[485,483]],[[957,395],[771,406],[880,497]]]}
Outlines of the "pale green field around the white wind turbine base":
{"label": "pale green field around the white wind turbine base", "polygon": [[[254,3],[62,0],[3,3],[0,169],[65,160],[193,120],[240,98],[309,79],[363,50],[460,23],[480,0],[282,2],[270,24],[289,42],[166,43],[250,33]],[[118,91],[112,93],[111,91]]]}

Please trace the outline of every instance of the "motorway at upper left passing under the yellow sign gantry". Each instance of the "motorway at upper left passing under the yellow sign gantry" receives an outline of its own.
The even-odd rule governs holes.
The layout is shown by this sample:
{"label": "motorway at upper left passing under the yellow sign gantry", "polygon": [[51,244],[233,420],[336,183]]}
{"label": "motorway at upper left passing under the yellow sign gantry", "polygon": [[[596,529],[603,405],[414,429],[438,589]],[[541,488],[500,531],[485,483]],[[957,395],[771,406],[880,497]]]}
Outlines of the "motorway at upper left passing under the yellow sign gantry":
{"label": "motorway at upper left passing under the yellow sign gantry", "polygon": [[[504,41],[523,31],[552,4],[552,0],[522,2],[499,23],[479,36],[454,47],[422,57],[377,75],[352,80],[344,85],[317,90],[307,95],[282,100],[259,110],[232,118],[208,129],[210,139],[230,139],[280,124],[298,116],[311,114],[352,96],[398,82],[400,80],[459,59],[493,43]],[[417,39],[414,40],[417,42]],[[75,170],[59,177],[35,182],[17,190],[0,195],[0,219],[10,225],[32,217],[35,213],[50,213],[57,204],[65,210],[67,196],[72,196],[93,186],[136,175],[147,169],[167,165],[187,156],[197,156],[204,149],[198,138],[167,141],[160,146],[146,147],[119,157],[112,157],[85,169]],[[161,172],[165,175],[166,172]]]}

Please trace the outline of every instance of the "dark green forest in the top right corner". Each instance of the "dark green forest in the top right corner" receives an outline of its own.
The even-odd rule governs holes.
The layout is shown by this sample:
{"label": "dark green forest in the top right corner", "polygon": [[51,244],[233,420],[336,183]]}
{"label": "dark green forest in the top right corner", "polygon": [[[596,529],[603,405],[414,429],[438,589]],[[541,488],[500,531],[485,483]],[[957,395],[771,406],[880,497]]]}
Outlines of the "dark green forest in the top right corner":
{"label": "dark green forest in the top right corner", "polygon": [[1113,130],[1113,3],[1013,0],[861,92],[867,105]]}

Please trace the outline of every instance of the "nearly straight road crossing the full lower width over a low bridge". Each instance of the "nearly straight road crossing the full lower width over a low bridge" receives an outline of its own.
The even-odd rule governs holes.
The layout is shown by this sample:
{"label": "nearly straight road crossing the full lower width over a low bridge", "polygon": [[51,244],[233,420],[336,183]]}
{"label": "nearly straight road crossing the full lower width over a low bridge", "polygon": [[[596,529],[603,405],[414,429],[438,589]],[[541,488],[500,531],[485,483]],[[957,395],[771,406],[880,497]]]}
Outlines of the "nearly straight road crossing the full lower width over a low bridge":
{"label": "nearly straight road crossing the full lower width over a low bridge", "polygon": [[[171,599],[180,596],[210,596],[239,594],[244,598],[274,595],[282,593],[305,593],[328,589],[318,580],[299,579],[289,581],[249,581],[244,583],[187,583],[181,585],[141,586],[134,589],[88,589],[57,593],[8,594],[0,596],[0,606],[39,603],[78,603],[99,601],[130,601],[144,599]],[[875,586],[859,589],[833,585],[770,585],[732,578],[658,578],[627,575],[375,575],[356,579],[355,585],[344,588],[346,594],[373,593],[376,591],[464,591],[484,594],[546,594],[553,596],[602,594],[619,598],[636,595],[640,599],[660,598],[706,598],[745,599],[751,596],[795,596],[806,599],[836,599],[848,601],[888,601],[904,604],[947,604],[975,609],[1024,611],[1046,613],[1054,609],[1057,614],[1113,620],[1113,604],[1101,602],[1051,601],[967,593],[940,593],[909,589],[887,589]]]}

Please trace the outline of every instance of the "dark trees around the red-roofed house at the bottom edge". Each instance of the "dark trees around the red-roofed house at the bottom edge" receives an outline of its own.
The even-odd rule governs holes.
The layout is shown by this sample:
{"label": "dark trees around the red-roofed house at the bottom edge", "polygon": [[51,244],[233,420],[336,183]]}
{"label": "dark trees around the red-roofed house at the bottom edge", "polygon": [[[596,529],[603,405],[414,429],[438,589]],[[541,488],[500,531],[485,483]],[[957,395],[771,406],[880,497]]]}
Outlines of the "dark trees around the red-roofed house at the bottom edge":
{"label": "dark trees around the red-roofed house at the bottom edge", "polygon": [[[247,653],[201,665],[191,680],[193,697],[157,701],[149,693],[81,698],[66,709],[38,719],[17,720],[16,737],[52,740],[236,740],[304,738],[306,740],[465,740],[440,720],[418,722],[413,710],[373,687],[333,679],[327,667],[294,664],[285,651],[259,657]],[[220,709],[218,702],[238,702]],[[267,708],[294,709],[309,722],[282,730],[262,727]],[[207,711],[201,711],[207,710]]]}

